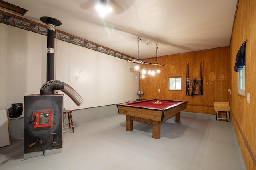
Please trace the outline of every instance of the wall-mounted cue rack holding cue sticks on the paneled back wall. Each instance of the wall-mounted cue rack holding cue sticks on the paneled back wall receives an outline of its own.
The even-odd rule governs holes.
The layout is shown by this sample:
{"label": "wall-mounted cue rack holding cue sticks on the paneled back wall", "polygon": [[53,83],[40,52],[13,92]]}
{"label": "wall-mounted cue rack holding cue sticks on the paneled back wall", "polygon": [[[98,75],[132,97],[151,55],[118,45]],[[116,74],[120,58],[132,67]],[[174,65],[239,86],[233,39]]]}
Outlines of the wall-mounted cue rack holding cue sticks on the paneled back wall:
{"label": "wall-mounted cue rack holding cue sticks on the paneled back wall", "polygon": [[199,63],[199,79],[189,78],[189,63],[186,63],[186,95],[203,96],[203,62]]}

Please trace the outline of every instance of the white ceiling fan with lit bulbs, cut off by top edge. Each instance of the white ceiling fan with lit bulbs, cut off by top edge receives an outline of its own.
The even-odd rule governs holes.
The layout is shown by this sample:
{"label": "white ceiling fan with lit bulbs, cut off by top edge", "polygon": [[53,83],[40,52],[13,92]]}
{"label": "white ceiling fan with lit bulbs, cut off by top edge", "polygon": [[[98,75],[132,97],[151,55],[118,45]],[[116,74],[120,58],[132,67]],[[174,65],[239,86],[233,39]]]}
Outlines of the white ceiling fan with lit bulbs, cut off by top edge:
{"label": "white ceiling fan with lit bulbs, cut off by top edge", "polygon": [[97,4],[101,4],[102,6],[111,6],[113,12],[116,14],[122,14],[124,12],[124,8],[122,8],[122,6],[120,6],[114,0],[88,0],[80,4],[79,7],[84,10],[87,10]]}

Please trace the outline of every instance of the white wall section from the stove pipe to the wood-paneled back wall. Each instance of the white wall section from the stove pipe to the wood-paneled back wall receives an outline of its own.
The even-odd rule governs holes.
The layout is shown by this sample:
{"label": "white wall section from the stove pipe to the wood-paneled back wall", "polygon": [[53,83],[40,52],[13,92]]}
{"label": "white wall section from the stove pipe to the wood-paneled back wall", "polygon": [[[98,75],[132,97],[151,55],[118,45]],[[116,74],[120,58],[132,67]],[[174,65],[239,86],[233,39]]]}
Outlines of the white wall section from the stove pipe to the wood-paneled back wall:
{"label": "white wall section from the stove pipe to the wood-paneled back wall", "polygon": [[57,41],[56,80],[70,85],[84,99],[80,106],[64,95],[64,107],[88,108],[135,100],[138,72],[134,63],[65,41]]}

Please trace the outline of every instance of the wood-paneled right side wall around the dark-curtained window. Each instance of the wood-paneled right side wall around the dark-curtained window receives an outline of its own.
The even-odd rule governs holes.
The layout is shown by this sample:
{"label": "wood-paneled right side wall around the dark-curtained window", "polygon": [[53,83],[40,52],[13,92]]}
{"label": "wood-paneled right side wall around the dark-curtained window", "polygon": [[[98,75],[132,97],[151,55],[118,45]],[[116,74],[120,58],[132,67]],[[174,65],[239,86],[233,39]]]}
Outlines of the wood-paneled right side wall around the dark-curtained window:
{"label": "wood-paneled right side wall around the dark-curtained window", "polygon": [[[252,42],[255,41],[255,9],[256,2],[254,0],[240,0],[238,4],[238,9],[236,12],[236,19],[234,21],[234,28],[232,32],[232,39],[230,43],[230,86],[231,86],[231,109],[233,111],[234,117],[237,119],[238,126],[242,130],[242,133],[245,135],[245,139],[241,137],[240,131],[236,130],[236,136],[238,138],[238,143],[240,145],[240,149],[244,158],[244,162],[246,164],[247,169],[256,169],[256,164],[252,160],[252,156],[249,153],[249,149],[246,147],[244,140],[248,141],[249,146],[254,153],[255,150],[255,100],[250,100],[250,104],[246,102],[246,97],[235,96],[235,92],[238,90],[238,73],[234,72],[234,60],[236,57],[236,53],[245,39],[248,39],[248,43],[246,45],[246,60],[250,61],[250,64],[246,62],[246,93],[255,94],[255,84],[254,75],[255,71],[255,63],[254,60],[255,53],[252,55],[253,51],[255,52],[255,43],[252,45]],[[254,36],[252,36],[254,34]],[[249,42],[251,40],[251,42]],[[250,76],[250,80],[248,80],[247,76]],[[250,96],[251,97],[251,96]],[[255,99],[255,95],[253,97]],[[252,99],[253,99],[252,98]],[[254,114],[254,116],[251,116]],[[253,118],[254,117],[254,118]],[[232,117],[232,120],[234,118]],[[232,121],[233,126],[236,127],[236,122]],[[250,126],[252,125],[252,126]],[[254,129],[254,131],[253,131]]]}

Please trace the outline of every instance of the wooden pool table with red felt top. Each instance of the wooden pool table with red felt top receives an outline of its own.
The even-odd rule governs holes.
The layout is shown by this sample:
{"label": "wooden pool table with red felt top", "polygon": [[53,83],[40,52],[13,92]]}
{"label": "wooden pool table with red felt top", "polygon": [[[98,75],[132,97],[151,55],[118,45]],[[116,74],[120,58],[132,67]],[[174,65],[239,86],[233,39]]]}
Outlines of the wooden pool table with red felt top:
{"label": "wooden pool table with red felt top", "polygon": [[117,104],[117,108],[119,114],[126,115],[126,131],[132,131],[133,121],[138,121],[153,125],[152,137],[159,139],[161,124],[173,116],[180,122],[180,111],[186,109],[187,104],[181,100],[151,99]]}

